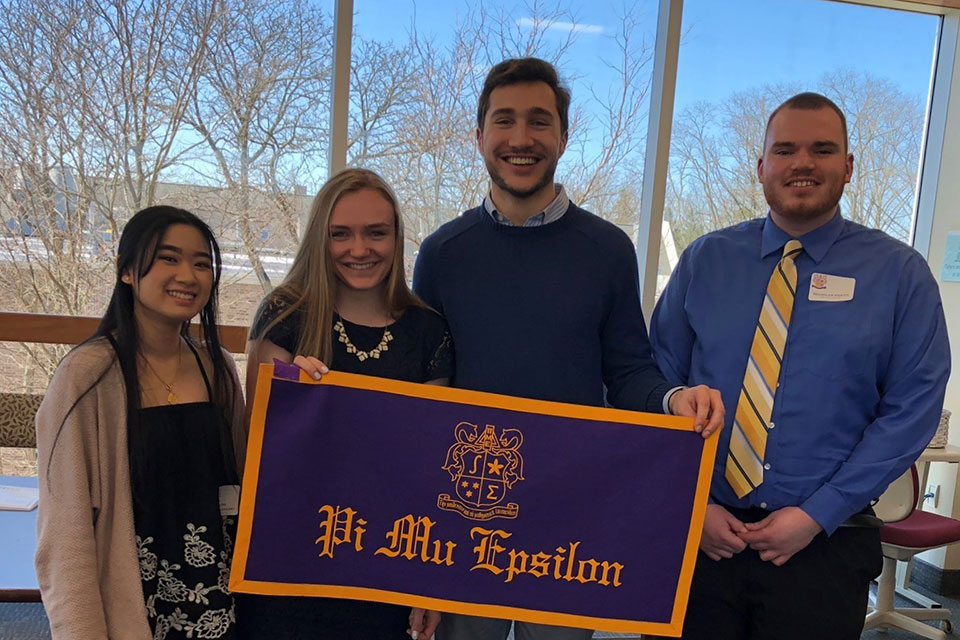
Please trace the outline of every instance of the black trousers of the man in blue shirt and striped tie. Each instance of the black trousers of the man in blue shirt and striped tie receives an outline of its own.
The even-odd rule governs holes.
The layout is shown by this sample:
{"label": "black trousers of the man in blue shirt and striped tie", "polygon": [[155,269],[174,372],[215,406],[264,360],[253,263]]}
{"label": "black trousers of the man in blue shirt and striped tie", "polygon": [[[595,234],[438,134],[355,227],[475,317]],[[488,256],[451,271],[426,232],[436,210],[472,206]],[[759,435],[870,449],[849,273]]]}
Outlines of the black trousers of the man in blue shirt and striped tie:
{"label": "black trousers of the man in blue shirt and striped tie", "polygon": [[[743,522],[761,509],[729,509]],[[685,640],[857,640],[863,630],[870,581],[883,557],[875,528],[820,532],[783,566],[747,547],[714,561],[702,552],[693,574]]]}

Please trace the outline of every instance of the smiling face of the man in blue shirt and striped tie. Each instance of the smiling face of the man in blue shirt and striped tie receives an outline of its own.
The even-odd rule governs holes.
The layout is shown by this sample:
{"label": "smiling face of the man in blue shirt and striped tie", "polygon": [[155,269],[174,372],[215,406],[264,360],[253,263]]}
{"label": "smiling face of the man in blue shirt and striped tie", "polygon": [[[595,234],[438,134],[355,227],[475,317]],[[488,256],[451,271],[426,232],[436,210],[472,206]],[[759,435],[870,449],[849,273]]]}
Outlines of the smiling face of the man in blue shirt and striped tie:
{"label": "smiling face of the man in blue shirt and striped tie", "polygon": [[757,176],[779,227],[802,235],[829,222],[852,173],[853,155],[832,109],[785,108],[774,116]]}

